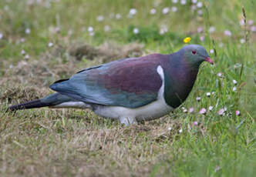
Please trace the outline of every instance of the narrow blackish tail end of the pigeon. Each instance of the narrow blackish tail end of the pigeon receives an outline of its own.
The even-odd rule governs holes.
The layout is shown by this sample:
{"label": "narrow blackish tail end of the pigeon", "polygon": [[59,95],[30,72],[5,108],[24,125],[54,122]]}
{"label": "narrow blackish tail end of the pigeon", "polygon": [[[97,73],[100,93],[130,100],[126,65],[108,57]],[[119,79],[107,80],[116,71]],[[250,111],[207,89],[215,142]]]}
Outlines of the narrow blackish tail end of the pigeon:
{"label": "narrow blackish tail end of the pigeon", "polygon": [[41,99],[35,99],[31,102],[25,102],[25,103],[22,103],[19,105],[12,105],[8,109],[10,111],[15,111],[15,110],[19,110],[19,109],[41,108],[41,107],[50,106],[50,105],[52,105],[52,104],[50,104],[49,102],[42,102]]}

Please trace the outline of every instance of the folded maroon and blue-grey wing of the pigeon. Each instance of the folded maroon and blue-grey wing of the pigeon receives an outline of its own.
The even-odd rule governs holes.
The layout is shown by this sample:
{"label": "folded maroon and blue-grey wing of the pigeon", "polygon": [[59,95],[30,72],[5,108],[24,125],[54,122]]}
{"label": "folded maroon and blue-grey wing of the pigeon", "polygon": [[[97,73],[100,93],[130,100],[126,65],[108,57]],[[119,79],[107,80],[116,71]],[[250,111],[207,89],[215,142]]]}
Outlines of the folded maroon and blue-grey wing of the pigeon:
{"label": "folded maroon and blue-grey wing of the pigeon", "polygon": [[157,73],[161,56],[126,58],[86,68],[50,88],[86,103],[137,108],[157,99],[162,85]]}

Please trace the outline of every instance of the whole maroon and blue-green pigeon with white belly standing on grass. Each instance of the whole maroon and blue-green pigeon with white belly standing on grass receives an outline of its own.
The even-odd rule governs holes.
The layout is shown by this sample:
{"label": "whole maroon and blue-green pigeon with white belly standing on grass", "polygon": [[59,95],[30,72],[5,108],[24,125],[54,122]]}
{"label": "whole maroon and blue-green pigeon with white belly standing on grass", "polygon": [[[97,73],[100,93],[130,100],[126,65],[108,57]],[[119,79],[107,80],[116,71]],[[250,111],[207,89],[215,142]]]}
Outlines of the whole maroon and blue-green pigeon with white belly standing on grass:
{"label": "whole maroon and blue-green pigeon with white belly standing on grass", "polygon": [[185,45],[171,54],[121,58],[56,81],[49,86],[55,93],[8,110],[91,109],[124,125],[158,119],[187,99],[202,62],[214,64],[201,45]]}

